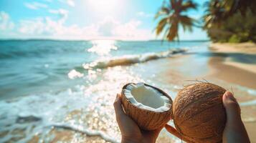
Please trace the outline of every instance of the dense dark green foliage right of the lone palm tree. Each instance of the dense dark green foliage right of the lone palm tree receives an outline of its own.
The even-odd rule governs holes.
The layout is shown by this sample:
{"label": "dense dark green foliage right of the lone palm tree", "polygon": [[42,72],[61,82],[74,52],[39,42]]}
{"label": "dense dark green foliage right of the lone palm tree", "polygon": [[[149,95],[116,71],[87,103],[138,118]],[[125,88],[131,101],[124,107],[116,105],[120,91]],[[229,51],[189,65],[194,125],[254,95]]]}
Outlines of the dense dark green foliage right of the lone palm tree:
{"label": "dense dark green foliage right of the lone palm tree", "polygon": [[[212,4],[216,4],[214,2]],[[255,10],[251,9],[253,5],[255,5],[255,2],[252,2],[252,4],[245,3],[242,7],[237,7],[236,9],[231,6],[226,12],[222,9],[221,11],[223,13],[220,14],[216,12],[220,10],[220,7],[215,9],[214,5],[208,4],[208,6],[213,7],[209,7],[207,14],[204,16],[204,29],[207,30],[207,34],[212,41],[232,43],[245,41],[256,42],[256,16],[254,13]],[[225,8],[227,4],[223,4],[222,6]],[[212,10],[209,11],[209,9]]]}

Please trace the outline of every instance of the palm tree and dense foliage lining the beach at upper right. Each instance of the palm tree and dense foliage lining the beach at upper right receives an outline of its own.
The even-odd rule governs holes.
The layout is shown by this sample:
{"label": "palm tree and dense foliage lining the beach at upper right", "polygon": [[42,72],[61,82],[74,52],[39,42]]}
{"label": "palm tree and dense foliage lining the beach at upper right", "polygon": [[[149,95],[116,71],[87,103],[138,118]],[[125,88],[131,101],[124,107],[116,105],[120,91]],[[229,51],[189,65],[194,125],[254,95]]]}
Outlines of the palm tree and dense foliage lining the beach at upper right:
{"label": "palm tree and dense foliage lining the beach at upper right", "polygon": [[215,42],[256,42],[256,0],[209,0],[200,21],[187,15],[197,7],[191,0],[164,1],[155,17],[160,19],[156,35],[162,34],[168,41],[179,40],[179,26],[184,31],[199,26]]}

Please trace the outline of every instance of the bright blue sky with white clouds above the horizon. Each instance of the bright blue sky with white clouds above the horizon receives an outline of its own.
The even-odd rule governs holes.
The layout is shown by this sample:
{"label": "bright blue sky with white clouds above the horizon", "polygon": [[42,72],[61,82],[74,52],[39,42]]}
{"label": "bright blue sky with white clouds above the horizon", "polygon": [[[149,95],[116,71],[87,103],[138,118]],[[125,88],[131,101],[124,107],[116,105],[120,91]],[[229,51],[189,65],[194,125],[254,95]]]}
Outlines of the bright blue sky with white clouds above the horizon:
{"label": "bright blue sky with white clouds above the horizon", "polygon": [[[194,0],[199,19],[206,0]],[[0,39],[161,39],[153,19],[163,0],[0,0]],[[206,31],[179,29],[181,40],[208,39]]]}

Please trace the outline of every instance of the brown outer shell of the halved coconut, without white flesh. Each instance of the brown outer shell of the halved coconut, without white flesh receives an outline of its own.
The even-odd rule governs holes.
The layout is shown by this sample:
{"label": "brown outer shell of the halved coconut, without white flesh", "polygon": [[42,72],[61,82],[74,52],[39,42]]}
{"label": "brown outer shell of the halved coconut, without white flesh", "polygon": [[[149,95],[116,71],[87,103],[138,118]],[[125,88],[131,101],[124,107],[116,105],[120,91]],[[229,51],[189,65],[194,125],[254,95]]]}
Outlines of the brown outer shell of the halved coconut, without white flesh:
{"label": "brown outer shell of the halved coconut, without white flesh", "polygon": [[[123,86],[123,89],[125,89],[129,84],[125,84],[125,86]],[[158,92],[168,97],[172,105],[171,97],[169,97],[168,94],[163,92],[161,89],[158,89],[151,85],[145,85],[148,87],[152,87],[153,89],[156,89]],[[131,102],[125,97],[123,90],[121,92],[121,99],[123,102],[123,109],[125,111],[125,114],[128,114],[128,116],[131,117],[133,121],[135,121],[141,129],[158,129],[160,127],[163,127],[171,119],[172,107],[170,107],[170,109],[166,112],[153,112],[146,109],[138,108],[134,104],[131,104]]]}

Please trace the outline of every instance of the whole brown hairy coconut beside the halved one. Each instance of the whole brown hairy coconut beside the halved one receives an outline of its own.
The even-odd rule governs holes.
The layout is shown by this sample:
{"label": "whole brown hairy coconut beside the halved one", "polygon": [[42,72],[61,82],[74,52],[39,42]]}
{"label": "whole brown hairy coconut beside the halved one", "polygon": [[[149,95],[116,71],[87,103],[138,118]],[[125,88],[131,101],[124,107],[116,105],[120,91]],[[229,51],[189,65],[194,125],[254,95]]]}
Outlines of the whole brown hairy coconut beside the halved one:
{"label": "whole brown hairy coconut beside the halved one", "polygon": [[224,88],[209,83],[181,89],[173,103],[174,124],[181,137],[191,142],[222,142],[224,92]]}

